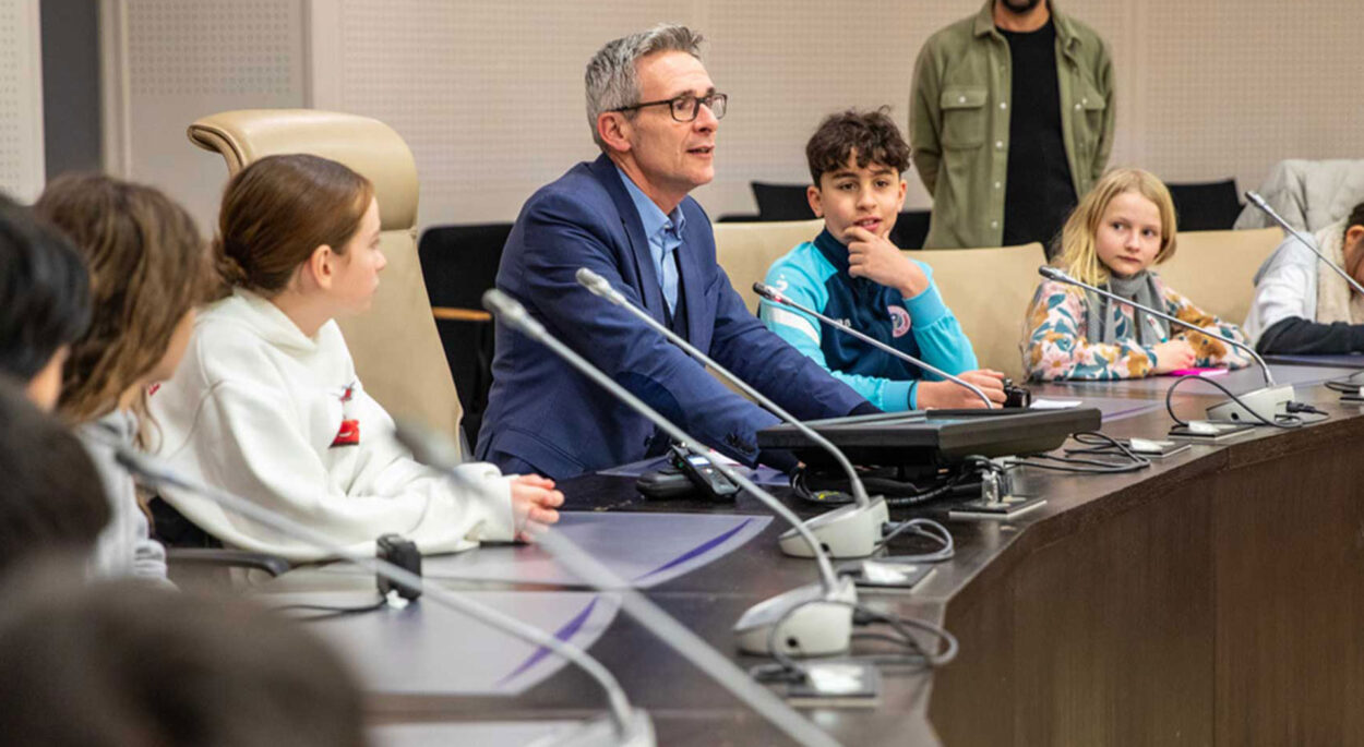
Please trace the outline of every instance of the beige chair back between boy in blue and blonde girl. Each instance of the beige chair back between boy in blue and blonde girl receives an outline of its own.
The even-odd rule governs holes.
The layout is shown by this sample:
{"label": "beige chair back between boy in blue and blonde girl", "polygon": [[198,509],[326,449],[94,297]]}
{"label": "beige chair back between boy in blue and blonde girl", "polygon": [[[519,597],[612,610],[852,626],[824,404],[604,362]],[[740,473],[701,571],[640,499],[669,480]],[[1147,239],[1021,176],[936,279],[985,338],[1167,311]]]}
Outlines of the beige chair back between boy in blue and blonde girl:
{"label": "beige chair back between boy in blue and blonde girl", "polygon": [[913,252],[933,267],[933,282],[943,293],[962,331],[975,349],[981,368],[1023,379],[1023,316],[1046,264],[1042,244],[989,249],[933,249]]}

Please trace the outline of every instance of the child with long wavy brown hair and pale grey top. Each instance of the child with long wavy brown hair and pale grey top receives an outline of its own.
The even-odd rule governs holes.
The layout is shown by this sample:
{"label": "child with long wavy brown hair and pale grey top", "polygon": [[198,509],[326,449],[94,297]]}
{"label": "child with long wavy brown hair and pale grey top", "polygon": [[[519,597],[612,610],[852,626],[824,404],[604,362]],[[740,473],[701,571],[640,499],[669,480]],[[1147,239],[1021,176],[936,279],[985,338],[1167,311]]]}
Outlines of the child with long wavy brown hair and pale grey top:
{"label": "child with long wavy brown hair and pale grey top", "polygon": [[57,412],[75,425],[104,477],[112,517],[95,544],[98,575],[165,581],[132,477],[113,442],[146,447],[146,391],[184,354],[213,267],[188,213],[140,184],[102,174],[52,180],[34,213],[71,239],[90,271],[93,314],[71,345]]}

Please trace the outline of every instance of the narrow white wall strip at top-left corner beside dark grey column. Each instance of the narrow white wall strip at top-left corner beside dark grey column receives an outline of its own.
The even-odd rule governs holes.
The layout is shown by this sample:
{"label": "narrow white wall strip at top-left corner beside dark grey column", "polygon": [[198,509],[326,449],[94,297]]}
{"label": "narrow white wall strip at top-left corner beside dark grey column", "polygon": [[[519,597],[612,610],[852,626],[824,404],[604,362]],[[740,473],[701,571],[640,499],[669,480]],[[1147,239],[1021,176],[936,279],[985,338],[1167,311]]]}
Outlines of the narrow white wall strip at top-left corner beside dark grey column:
{"label": "narrow white wall strip at top-left corner beside dark grey column", "polygon": [[0,0],[0,191],[42,191],[42,49],[38,0]]}

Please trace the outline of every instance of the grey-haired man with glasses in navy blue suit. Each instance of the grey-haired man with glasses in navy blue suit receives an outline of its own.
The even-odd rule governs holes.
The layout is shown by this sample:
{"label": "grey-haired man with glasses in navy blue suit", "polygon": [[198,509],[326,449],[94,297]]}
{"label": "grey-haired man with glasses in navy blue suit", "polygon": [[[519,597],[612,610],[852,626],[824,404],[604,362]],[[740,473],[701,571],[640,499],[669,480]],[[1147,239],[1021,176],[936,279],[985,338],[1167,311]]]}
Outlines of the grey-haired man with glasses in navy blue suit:
{"label": "grey-haired man with glasses in navy blue suit", "polygon": [[[801,418],[878,412],[749,314],[715,262],[711,221],[687,192],[715,177],[726,97],[681,26],[615,40],[587,70],[602,157],[537,191],[507,237],[496,285],[554,335],[685,431],[745,462],[777,418],[743,399],[626,311],[578,286],[588,267],[655,319]],[[542,345],[496,327],[477,455],[506,472],[562,478],[662,454],[655,432]]]}

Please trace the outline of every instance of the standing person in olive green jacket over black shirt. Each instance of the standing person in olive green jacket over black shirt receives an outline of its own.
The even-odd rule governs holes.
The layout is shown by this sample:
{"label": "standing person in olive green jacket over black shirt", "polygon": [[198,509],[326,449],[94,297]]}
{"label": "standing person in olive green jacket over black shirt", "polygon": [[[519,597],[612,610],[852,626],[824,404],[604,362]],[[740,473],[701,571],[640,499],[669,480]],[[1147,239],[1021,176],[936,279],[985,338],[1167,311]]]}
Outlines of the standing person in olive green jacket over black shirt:
{"label": "standing person in olive green jacket over black shirt", "polygon": [[933,34],[910,94],[925,248],[1052,240],[1113,147],[1113,64],[1052,0],[986,0]]}

